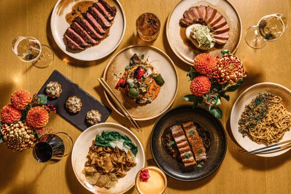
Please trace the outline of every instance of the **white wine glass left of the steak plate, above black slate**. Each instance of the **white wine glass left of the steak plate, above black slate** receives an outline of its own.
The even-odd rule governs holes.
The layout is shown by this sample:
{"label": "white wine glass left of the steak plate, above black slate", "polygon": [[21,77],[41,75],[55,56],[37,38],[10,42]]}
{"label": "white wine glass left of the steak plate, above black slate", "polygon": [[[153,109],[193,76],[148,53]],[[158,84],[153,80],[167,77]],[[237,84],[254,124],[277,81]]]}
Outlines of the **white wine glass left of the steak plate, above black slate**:
{"label": "white wine glass left of the steak plate, above black slate", "polygon": [[12,50],[21,61],[30,62],[38,68],[46,68],[53,61],[53,52],[30,36],[18,36],[12,42]]}

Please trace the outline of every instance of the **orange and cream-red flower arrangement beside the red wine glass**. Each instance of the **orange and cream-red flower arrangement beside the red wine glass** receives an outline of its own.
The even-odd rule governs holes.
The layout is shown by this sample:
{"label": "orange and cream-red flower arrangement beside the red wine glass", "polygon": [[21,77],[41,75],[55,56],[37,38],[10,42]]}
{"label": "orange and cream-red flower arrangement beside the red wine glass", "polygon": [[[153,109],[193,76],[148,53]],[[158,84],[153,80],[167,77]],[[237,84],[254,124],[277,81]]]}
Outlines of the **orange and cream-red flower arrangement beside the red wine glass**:
{"label": "orange and cream-red flower arrangement beside the red wine glass", "polygon": [[21,152],[31,148],[46,138],[53,130],[45,128],[49,122],[49,113],[56,113],[53,105],[47,105],[46,95],[33,96],[27,90],[16,90],[10,98],[11,104],[0,112],[0,143],[13,151]]}

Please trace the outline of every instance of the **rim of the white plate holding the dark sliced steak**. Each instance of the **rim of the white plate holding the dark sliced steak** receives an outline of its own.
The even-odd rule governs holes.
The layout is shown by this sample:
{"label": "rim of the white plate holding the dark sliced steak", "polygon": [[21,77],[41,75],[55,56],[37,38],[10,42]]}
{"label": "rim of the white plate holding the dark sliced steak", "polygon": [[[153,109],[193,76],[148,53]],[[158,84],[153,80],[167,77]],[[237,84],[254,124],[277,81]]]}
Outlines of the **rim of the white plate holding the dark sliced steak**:
{"label": "rim of the white plate holding the dark sliced steak", "polygon": [[126,30],[126,16],[125,16],[125,12],[124,12],[124,9],[121,5],[121,3],[119,2],[119,0],[114,0],[117,5],[119,6],[120,10],[121,10],[121,13],[122,13],[122,16],[123,16],[123,21],[124,21],[124,24],[123,24],[123,32],[122,32],[122,35],[121,35],[121,38],[120,40],[118,41],[118,43],[114,46],[113,49],[111,49],[108,53],[106,53],[105,55],[103,56],[100,56],[100,57],[96,57],[96,58],[93,58],[93,59],[80,59],[78,57],[76,57],[74,55],[74,53],[66,53],[63,48],[61,47],[60,43],[56,41],[56,33],[53,31],[53,16],[56,14],[56,10],[57,10],[57,6],[60,4],[62,0],[58,0],[51,12],[51,16],[50,16],[50,31],[51,31],[51,34],[52,34],[52,37],[53,37],[53,40],[54,42],[58,45],[58,47],[68,56],[74,58],[74,59],[77,59],[77,60],[80,60],[80,61],[96,61],[96,60],[99,60],[99,59],[103,59],[105,57],[107,57],[109,54],[111,54],[115,49],[117,49],[117,47],[120,45],[121,41],[123,40],[123,37],[124,37],[124,34],[125,34],[125,30]]}

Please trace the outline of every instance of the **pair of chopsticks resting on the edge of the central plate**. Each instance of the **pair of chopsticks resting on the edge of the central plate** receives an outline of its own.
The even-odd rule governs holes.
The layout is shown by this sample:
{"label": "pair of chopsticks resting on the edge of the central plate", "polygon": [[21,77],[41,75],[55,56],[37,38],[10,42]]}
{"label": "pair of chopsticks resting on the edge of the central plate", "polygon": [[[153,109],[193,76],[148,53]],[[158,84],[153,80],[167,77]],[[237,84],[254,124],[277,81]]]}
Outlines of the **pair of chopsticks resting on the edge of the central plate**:
{"label": "pair of chopsticks resting on the edge of the central plate", "polygon": [[124,107],[124,105],[120,102],[120,100],[115,96],[115,94],[113,93],[113,91],[109,87],[109,85],[106,83],[106,81],[103,78],[101,78],[101,79],[98,78],[98,81],[103,86],[103,88],[105,89],[105,91],[109,94],[109,96],[113,99],[113,101],[116,104],[116,106],[118,107],[118,109],[128,118],[128,120],[133,125],[133,127],[137,131],[142,131],[140,125],[132,118],[132,116],[130,115],[130,113],[128,112],[128,110]]}

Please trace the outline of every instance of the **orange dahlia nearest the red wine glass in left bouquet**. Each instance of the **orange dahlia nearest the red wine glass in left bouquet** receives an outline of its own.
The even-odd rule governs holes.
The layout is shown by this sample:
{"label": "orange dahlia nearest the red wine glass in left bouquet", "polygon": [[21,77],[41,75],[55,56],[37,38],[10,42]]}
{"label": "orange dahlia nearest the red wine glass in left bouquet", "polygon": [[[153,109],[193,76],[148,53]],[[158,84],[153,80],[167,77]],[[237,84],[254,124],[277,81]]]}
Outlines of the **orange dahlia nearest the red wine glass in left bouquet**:
{"label": "orange dahlia nearest the red wine glass in left bouquet", "polygon": [[49,122],[49,113],[42,107],[33,107],[26,116],[26,122],[33,128],[43,128]]}

